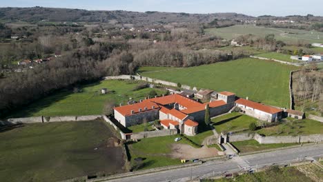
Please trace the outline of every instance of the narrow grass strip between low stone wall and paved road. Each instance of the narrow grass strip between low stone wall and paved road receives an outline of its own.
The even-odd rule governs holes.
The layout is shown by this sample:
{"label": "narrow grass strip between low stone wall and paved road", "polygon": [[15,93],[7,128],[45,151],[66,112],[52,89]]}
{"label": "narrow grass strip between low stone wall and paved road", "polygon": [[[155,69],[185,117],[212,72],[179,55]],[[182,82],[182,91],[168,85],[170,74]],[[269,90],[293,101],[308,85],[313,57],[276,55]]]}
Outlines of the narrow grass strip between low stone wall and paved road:
{"label": "narrow grass strip between low stone wall and paved road", "polygon": [[267,150],[272,148],[284,148],[292,145],[299,145],[298,143],[273,143],[273,144],[260,144],[255,140],[248,141],[235,141],[231,142],[239,150],[239,152],[255,152],[260,150]]}

